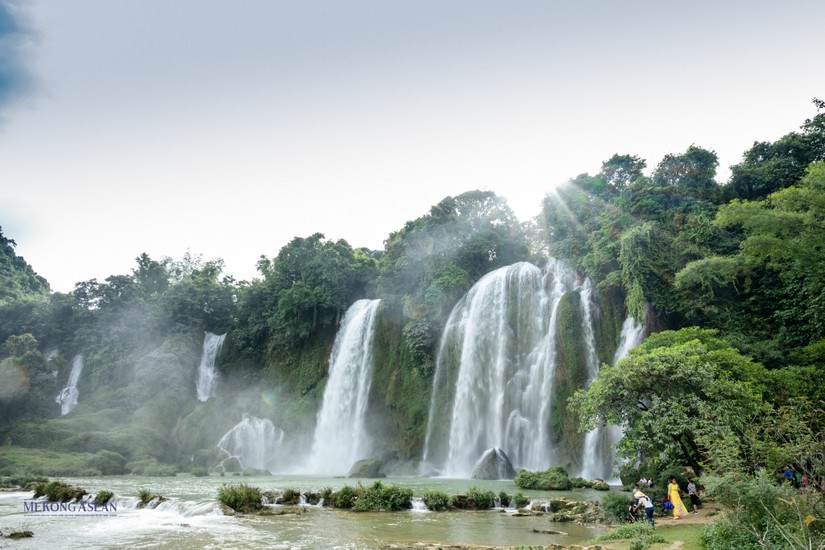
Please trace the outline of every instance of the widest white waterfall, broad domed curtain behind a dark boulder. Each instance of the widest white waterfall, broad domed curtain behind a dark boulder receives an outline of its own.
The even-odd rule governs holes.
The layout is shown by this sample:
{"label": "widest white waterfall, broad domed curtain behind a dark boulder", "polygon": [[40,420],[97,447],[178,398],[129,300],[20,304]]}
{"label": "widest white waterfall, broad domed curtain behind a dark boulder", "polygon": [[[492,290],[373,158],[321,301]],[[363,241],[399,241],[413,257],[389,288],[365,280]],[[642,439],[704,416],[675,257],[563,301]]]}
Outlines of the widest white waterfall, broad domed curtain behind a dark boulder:
{"label": "widest white waterfall, broad domed curtain behind a dark boulder", "polygon": [[[491,447],[501,447],[517,470],[553,463],[547,417],[557,312],[575,282],[556,260],[544,272],[517,263],[482,277],[453,308],[436,362],[424,464],[467,478]],[[449,398],[445,387],[456,369],[445,453],[435,441],[445,422],[437,417],[438,401]]]}

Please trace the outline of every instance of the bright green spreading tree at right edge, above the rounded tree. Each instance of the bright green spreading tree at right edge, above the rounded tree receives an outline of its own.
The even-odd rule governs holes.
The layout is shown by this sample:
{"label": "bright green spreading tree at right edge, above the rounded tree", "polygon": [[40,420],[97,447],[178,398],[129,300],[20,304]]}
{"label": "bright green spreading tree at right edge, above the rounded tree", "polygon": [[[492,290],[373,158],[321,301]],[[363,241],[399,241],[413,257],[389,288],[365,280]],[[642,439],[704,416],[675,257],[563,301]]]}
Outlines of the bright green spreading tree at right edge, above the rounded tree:
{"label": "bright green spreading tree at right edge, above the rounded tree", "polygon": [[728,331],[737,323],[781,347],[825,337],[825,162],[763,200],[731,201],[714,223],[740,234],[738,249],[692,262],[676,279],[708,322]]}

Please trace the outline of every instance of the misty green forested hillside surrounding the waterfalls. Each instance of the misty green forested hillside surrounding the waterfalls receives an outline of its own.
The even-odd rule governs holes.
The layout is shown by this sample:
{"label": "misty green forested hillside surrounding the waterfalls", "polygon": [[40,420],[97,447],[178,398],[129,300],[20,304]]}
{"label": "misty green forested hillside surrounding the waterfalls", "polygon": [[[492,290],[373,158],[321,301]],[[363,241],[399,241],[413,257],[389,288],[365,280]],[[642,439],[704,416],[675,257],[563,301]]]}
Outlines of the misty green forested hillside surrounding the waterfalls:
{"label": "misty green forested hillside surrounding the waterfalls", "polygon": [[[623,425],[622,449],[641,471],[776,468],[800,445],[821,449],[825,103],[815,107],[797,131],[754,143],[727,182],[716,179],[714,151],[698,145],[649,175],[645,159],[617,154],[549,193],[535,220],[519,222],[503,198],[469,191],[407,221],[383,250],[296,237],[261,257],[253,281],[225,276],[220,259],[140,254],[131,273],[49,293],[0,235],[0,472],[209,467],[241,414],[277,418],[307,445],[300,434],[315,420],[336,331],[360,298],[381,299],[370,422],[384,458],[413,464],[453,307],[485,274],[548,257],[592,282],[607,342],[599,380],[570,410],[587,426]],[[620,372],[607,364],[628,314],[662,334]],[[227,338],[223,389],[199,402],[192,373],[204,332]],[[55,396],[78,355],[79,401],[62,416]],[[788,406],[800,416],[787,416]],[[766,443],[789,422],[812,439]],[[47,451],[61,458],[50,462]],[[825,474],[821,460],[794,461]]]}

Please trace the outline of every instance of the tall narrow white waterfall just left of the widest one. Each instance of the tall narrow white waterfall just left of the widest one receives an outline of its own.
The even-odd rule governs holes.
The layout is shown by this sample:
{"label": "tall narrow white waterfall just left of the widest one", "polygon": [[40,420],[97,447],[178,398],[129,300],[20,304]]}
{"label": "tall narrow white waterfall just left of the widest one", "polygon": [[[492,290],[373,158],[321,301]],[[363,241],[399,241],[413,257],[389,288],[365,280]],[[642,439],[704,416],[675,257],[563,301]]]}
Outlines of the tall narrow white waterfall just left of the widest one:
{"label": "tall narrow white waterfall just left of the widest one", "polygon": [[372,382],[372,339],[380,300],[358,300],[335,336],[329,379],[318,412],[311,473],[342,475],[371,452],[364,417]]}

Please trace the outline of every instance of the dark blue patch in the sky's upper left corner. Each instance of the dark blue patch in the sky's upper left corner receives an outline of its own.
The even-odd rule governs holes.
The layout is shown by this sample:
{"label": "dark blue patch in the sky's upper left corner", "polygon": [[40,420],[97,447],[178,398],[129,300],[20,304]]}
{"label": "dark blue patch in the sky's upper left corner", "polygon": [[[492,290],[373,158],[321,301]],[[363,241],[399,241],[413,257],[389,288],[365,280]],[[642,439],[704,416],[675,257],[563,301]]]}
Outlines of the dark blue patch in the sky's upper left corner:
{"label": "dark blue patch in the sky's upper left corner", "polygon": [[0,123],[9,106],[34,88],[29,59],[35,34],[16,0],[0,0]]}

